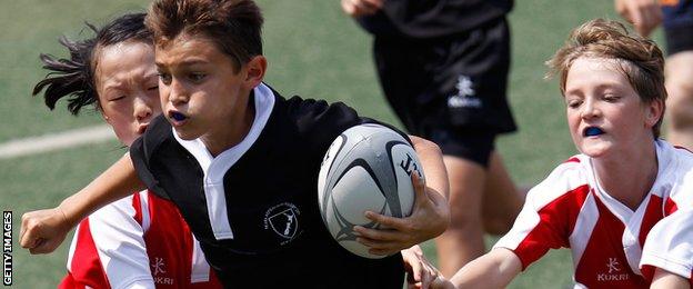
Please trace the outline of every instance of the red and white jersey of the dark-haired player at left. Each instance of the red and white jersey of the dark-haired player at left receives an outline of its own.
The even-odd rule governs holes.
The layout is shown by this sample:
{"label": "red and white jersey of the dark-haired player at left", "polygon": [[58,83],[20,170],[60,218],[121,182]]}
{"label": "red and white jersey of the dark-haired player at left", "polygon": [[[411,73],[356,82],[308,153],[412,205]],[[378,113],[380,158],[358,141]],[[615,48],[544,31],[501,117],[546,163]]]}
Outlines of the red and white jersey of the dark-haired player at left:
{"label": "red and white jersey of the dark-haired player at left", "polygon": [[77,228],[58,288],[222,288],[175,206],[148,191]]}

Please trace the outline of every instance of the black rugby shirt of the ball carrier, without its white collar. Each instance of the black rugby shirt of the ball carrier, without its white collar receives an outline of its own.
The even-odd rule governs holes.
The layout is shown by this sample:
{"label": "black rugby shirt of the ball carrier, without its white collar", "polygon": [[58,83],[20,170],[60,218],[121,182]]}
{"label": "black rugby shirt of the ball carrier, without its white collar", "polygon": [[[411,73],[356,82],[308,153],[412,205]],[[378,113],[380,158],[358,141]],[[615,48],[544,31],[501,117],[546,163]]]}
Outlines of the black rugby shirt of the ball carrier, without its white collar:
{"label": "black rugby shirt of the ball carrier, without its white collar", "polygon": [[232,238],[214,236],[204,169],[163,117],[130,148],[140,179],[177,205],[225,287],[401,288],[401,255],[371,260],[348,252],[319,211],[322,157],[334,138],[364,119],[343,103],[270,97],[267,124],[223,172]]}

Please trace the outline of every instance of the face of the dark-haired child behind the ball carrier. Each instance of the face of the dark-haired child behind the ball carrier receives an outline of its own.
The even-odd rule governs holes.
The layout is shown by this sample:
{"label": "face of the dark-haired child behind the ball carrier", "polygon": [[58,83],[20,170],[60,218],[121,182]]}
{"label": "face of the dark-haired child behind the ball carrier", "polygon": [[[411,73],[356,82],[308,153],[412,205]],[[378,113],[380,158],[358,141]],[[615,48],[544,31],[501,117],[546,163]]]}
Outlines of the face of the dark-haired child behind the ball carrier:
{"label": "face of the dark-haired child behind the ball carrier", "polygon": [[127,41],[99,51],[96,89],[106,121],[130,146],[161,113],[152,46]]}

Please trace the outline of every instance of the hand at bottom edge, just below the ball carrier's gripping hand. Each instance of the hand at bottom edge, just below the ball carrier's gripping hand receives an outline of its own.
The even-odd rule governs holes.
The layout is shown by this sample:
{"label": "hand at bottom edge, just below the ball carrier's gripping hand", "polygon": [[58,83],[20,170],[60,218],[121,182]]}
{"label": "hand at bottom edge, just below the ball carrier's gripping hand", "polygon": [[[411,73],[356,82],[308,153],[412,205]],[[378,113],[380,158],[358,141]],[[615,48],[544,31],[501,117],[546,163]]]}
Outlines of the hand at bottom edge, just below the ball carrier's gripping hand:
{"label": "hand at bottom edge, just below the ball carrier's gripping hand", "polygon": [[431,282],[441,276],[440,271],[425,259],[419,245],[402,250],[402,260],[406,271],[408,288],[429,288]]}

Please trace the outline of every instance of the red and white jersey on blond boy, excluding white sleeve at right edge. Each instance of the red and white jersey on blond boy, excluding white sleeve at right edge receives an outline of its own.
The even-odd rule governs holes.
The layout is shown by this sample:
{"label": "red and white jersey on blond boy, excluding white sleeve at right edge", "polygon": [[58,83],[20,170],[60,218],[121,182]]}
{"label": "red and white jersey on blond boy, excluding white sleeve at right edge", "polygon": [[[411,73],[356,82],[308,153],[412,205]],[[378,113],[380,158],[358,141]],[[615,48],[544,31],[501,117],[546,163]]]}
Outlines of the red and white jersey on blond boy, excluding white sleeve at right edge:
{"label": "red and white jersey on blond boy, excluding white sleeve at right edge", "polygon": [[523,269],[549,249],[570,248],[576,287],[647,287],[639,265],[652,227],[693,205],[693,155],[655,141],[659,171],[633,211],[596,181],[592,160],[578,155],[528,193],[513,228],[494,248],[508,248]]}

